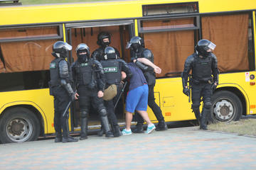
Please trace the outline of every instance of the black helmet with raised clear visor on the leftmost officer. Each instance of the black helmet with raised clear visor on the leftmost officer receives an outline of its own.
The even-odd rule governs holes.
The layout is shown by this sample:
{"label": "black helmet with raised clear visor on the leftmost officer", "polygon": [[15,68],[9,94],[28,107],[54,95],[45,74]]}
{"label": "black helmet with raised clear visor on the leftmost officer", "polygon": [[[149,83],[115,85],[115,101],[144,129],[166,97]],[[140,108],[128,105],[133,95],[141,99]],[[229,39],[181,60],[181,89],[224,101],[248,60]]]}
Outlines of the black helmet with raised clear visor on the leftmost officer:
{"label": "black helmet with raised clear visor on the leftmost officer", "polygon": [[69,45],[67,42],[57,41],[53,44],[53,53],[54,57],[68,57],[67,52],[72,50],[72,46]]}

